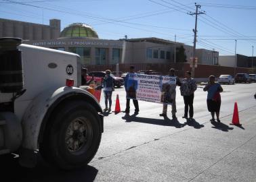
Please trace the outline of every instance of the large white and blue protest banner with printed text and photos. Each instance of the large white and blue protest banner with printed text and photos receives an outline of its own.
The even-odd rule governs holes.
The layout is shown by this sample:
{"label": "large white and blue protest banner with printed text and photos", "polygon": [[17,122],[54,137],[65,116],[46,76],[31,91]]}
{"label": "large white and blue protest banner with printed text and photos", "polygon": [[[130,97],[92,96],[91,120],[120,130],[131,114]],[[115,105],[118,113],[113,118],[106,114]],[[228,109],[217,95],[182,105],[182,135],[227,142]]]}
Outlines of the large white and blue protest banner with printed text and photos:
{"label": "large white and blue protest banner with printed text and photos", "polygon": [[176,77],[137,73],[127,76],[127,98],[171,104],[175,88]]}

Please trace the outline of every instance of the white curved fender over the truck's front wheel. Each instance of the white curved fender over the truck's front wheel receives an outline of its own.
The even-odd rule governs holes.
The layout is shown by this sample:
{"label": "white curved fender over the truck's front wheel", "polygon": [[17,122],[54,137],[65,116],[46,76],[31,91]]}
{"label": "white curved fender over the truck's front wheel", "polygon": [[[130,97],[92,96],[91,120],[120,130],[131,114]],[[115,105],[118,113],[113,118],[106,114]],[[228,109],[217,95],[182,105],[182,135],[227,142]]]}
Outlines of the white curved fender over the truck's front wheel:
{"label": "white curved fender over the truck's front wheel", "polygon": [[[47,119],[60,102],[80,98],[91,102],[96,111],[102,113],[100,104],[89,92],[75,87],[61,87],[56,89],[48,89],[37,95],[28,105],[22,118],[23,140],[22,148],[29,150],[37,150],[39,148],[39,135],[44,132]],[[99,123],[103,131],[103,119]]]}

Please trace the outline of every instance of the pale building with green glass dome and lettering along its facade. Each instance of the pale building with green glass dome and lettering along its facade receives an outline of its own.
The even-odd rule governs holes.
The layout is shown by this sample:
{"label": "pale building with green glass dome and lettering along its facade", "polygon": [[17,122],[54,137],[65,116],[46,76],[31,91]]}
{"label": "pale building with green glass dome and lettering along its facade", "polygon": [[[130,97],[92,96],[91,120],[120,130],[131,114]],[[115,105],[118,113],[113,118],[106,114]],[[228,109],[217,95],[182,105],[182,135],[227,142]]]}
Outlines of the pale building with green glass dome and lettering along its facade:
{"label": "pale building with green glass dome and lettering along its facade", "polygon": [[116,63],[169,63],[173,62],[174,43],[161,38],[134,38],[106,40],[87,24],[70,24],[54,40],[28,40],[33,44],[61,51],[77,53],[84,65]]}

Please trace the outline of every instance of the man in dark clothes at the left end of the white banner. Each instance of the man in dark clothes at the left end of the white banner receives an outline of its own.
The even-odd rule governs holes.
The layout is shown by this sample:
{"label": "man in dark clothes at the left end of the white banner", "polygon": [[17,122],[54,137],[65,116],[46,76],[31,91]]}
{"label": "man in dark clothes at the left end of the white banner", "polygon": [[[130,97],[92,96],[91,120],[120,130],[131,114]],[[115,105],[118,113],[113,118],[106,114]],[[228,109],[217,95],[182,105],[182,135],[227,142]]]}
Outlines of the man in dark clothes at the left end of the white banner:
{"label": "man in dark clothes at the left end of the white banner", "polygon": [[[125,91],[126,91],[126,109],[125,109],[125,113],[129,113],[130,112],[130,97],[129,97],[129,88],[128,88],[128,78],[129,78],[129,74],[131,73],[135,73],[134,72],[135,67],[133,65],[130,66],[130,71],[129,73],[127,73],[126,77],[125,77]],[[136,99],[133,99],[133,104],[135,107],[135,114],[139,113],[139,103],[137,102]]]}

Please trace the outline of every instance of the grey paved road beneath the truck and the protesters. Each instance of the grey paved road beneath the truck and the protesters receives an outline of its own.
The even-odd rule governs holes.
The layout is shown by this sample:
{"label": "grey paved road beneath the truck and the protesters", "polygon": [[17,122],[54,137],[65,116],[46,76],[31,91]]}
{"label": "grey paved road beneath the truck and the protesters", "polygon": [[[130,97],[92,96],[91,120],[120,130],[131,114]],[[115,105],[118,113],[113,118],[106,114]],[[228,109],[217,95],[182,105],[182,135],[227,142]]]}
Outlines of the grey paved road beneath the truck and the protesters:
{"label": "grey paved road beneath the truck and the protesters", "polygon": [[[177,120],[171,120],[171,107],[163,119],[161,104],[143,101],[133,115],[131,102],[130,115],[106,113],[100,148],[85,168],[65,172],[39,162],[35,169],[24,169],[1,160],[5,180],[0,181],[256,181],[256,84],[224,85],[223,90],[221,123],[209,121],[202,88],[195,92],[195,120],[186,123],[177,88]],[[113,93],[112,109],[116,94],[124,110],[124,88]],[[242,127],[230,125],[234,102]],[[100,104],[104,107],[104,99]]]}

